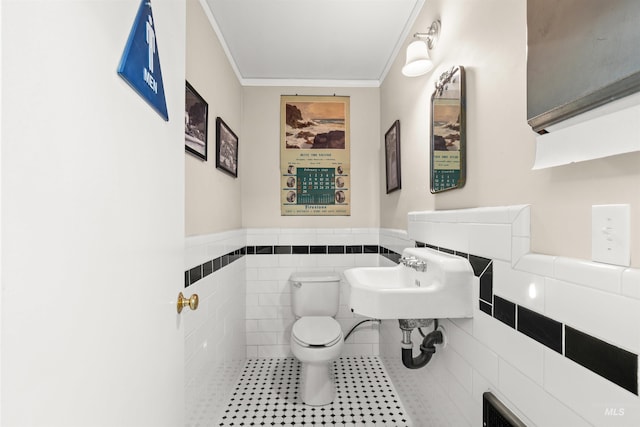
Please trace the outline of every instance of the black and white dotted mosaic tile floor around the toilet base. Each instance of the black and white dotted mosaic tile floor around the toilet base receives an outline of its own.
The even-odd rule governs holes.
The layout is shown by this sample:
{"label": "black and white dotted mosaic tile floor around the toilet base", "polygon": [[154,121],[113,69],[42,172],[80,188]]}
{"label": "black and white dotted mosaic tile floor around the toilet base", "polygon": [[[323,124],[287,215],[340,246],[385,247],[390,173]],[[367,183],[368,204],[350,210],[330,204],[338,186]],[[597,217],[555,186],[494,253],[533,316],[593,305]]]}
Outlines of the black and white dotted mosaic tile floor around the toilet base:
{"label": "black and white dotted mosaic tile floor around the toilet base", "polygon": [[333,362],[336,398],[320,407],[298,397],[300,363],[293,358],[247,361],[217,426],[390,426],[411,422],[378,357]]}

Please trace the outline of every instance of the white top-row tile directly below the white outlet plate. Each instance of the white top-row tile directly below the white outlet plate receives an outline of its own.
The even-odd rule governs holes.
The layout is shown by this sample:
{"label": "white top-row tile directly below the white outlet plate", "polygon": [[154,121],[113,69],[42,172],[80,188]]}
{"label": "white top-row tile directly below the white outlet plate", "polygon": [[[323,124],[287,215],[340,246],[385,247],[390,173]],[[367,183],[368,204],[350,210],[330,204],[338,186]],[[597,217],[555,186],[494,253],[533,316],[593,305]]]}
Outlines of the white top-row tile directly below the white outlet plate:
{"label": "white top-row tile directly below the white outlet plate", "polygon": [[607,292],[621,293],[622,272],[618,267],[598,262],[558,257],[555,260],[555,278],[579,285],[602,289]]}

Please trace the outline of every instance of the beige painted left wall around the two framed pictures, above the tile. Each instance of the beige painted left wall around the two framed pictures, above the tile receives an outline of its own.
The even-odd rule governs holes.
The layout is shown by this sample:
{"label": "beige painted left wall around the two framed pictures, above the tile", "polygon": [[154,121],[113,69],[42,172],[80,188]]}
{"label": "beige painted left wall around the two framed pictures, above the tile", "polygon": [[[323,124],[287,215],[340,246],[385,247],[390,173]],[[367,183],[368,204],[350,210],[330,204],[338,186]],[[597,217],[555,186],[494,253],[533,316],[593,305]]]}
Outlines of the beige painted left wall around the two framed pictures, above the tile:
{"label": "beige painted left wall around the two framed pictures, above the tile", "polygon": [[241,227],[240,179],[216,169],[216,117],[238,135],[244,149],[242,87],[198,0],[187,1],[186,47],[187,81],[209,104],[209,128],[208,160],[185,153],[185,235],[234,230]]}

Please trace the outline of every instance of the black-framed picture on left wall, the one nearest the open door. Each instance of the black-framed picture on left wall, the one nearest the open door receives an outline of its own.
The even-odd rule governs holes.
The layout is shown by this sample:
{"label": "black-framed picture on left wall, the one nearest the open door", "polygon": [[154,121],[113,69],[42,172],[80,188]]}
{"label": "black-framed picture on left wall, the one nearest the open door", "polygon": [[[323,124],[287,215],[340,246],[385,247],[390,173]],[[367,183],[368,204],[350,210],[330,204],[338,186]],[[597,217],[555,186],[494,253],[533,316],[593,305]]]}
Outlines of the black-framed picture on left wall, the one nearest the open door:
{"label": "black-framed picture on left wall, the one nearest the open door", "polygon": [[209,104],[186,82],[184,104],[184,148],[187,153],[207,161]]}

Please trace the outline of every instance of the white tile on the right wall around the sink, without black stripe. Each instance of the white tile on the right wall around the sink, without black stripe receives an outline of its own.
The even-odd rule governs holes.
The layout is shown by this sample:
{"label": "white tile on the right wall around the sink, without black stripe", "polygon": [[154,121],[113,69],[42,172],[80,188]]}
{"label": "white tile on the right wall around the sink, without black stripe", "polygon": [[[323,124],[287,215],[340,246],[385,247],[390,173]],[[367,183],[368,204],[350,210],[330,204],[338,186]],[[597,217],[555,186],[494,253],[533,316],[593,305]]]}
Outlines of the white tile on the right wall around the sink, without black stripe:
{"label": "white tile on the right wall around the sink, without black stripe", "polygon": [[[531,254],[530,216],[528,206],[412,212],[405,243],[419,241],[491,258],[495,295],[637,354],[640,270]],[[398,230],[381,230],[380,245],[401,235]],[[471,320],[442,324],[448,331],[447,347],[408,378],[397,374],[405,369],[397,357],[397,325],[385,323],[381,328],[381,354],[394,383],[415,382],[413,393],[427,404],[434,398],[421,384],[438,387],[468,425],[482,424],[482,393],[487,390],[528,426],[640,425],[637,395],[477,307]],[[416,399],[403,396],[402,390],[398,388],[401,399]],[[407,405],[410,415],[419,419],[411,409]],[[451,424],[435,417],[429,425]]]}

